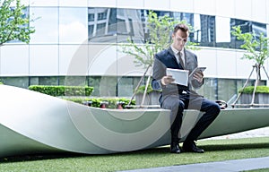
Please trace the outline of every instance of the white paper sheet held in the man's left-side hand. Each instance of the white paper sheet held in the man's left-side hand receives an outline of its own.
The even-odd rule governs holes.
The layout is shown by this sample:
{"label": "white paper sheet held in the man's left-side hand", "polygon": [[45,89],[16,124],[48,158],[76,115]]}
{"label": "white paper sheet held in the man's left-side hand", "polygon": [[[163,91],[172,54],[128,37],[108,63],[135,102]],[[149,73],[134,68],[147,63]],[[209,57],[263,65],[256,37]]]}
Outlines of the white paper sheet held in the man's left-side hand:
{"label": "white paper sheet held in the man's left-side hand", "polygon": [[172,75],[172,77],[175,79],[175,82],[172,82],[172,83],[177,83],[179,85],[187,86],[187,82],[188,82],[188,71],[187,70],[167,68],[166,74]]}

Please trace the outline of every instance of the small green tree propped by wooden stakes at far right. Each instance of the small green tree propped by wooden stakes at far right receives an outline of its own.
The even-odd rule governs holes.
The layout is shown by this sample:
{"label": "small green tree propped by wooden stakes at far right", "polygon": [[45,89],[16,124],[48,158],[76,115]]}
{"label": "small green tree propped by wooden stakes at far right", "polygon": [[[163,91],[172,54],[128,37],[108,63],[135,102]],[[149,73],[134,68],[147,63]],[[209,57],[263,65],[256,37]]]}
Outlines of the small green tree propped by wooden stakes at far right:
{"label": "small green tree propped by wooden stakes at far right", "polygon": [[263,33],[258,36],[255,33],[242,33],[240,26],[234,26],[232,29],[231,34],[238,40],[244,41],[241,47],[247,50],[248,54],[244,54],[242,59],[254,60],[256,63],[256,82],[259,85],[261,82],[261,68],[264,67],[265,60],[269,56],[269,39]]}

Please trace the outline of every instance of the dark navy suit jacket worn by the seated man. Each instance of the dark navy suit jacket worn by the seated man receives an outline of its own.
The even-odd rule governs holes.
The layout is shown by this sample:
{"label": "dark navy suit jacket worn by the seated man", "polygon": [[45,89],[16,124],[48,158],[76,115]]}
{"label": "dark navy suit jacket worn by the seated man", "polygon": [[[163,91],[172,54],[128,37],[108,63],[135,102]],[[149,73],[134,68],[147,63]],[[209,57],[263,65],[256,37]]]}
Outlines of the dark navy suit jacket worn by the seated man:
{"label": "dark navy suit jacket worn by the seated man", "polygon": [[[184,51],[186,56],[185,62],[185,70],[188,70],[189,73],[192,73],[195,67],[197,67],[197,56],[194,53],[185,49]],[[176,56],[174,56],[174,52],[169,47],[168,49],[162,50],[160,53],[154,56],[154,64],[153,64],[153,73],[152,73],[152,89],[153,90],[161,90],[161,102],[169,95],[180,95],[182,91],[185,90],[188,95],[198,95],[193,90],[194,88],[200,88],[203,83],[199,83],[196,80],[189,79],[188,86],[182,86],[177,84],[169,84],[163,86],[161,84],[161,78],[166,75],[166,69],[183,69],[183,67],[178,64]]]}

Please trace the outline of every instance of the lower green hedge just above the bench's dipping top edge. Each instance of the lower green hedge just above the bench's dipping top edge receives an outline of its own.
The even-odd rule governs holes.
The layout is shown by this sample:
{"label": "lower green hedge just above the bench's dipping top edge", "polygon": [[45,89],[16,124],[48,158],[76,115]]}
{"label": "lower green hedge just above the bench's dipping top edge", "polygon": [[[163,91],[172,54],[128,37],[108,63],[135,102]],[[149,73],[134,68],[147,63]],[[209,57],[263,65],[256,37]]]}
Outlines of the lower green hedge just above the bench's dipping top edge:
{"label": "lower green hedge just above the bench's dipping top edge", "polygon": [[[63,98],[69,101],[83,104],[85,101],[91,101],[91,107],[100,107],[102,102],[108,102],[108,108],[117,108],[117,102],[122,102],[123,107],[129,103],[130,99],[126,98]],[[135,105],[135,100],[131,101],[131,105]]]}

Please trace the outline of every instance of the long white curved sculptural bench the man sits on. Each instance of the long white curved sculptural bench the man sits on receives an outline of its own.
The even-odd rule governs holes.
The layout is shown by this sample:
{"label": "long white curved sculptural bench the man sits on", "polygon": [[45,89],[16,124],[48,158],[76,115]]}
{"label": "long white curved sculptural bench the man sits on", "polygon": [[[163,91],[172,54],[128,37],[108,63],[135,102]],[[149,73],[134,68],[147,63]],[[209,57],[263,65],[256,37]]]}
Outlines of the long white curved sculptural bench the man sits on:
{"label": "long white curved sculptural bench the man sits on", "polygon": [[[170,141],[169,110],[87,107],[39,92],[0,85],[0,157],[70,151],[107,154]],[[187,110],[181,142],[201,113]],[[269,108],[224,109],[200,138],[269,126]]]}

